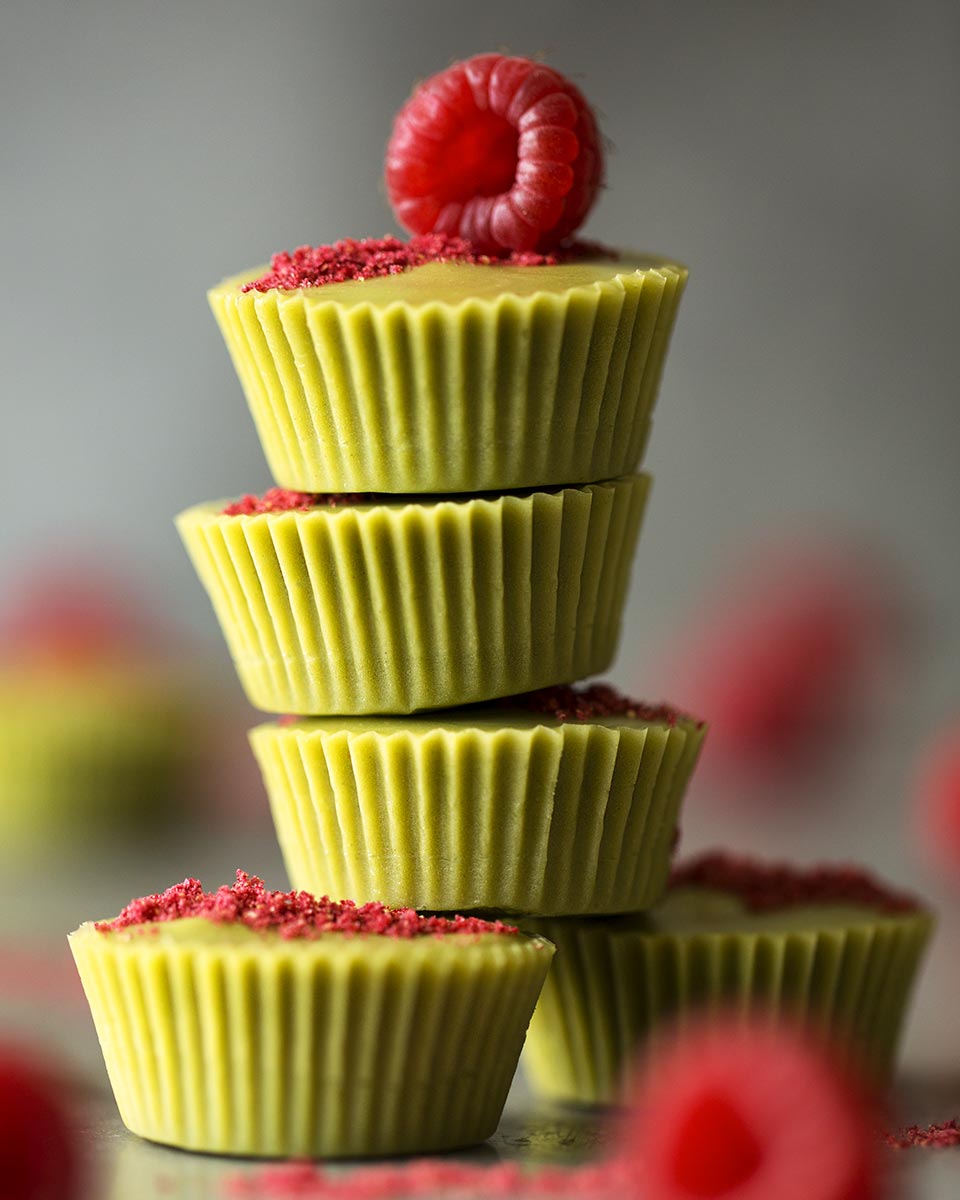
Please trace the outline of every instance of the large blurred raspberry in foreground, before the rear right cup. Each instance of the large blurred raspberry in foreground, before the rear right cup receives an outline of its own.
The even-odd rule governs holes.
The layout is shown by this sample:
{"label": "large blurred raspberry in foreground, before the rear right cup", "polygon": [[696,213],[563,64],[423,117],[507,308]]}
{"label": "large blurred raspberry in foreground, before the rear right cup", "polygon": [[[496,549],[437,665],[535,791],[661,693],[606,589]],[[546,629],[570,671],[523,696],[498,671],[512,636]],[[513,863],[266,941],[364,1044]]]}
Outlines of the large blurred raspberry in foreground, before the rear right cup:
{"label": "large blurred raspberry in foreground, before the rear right cup", "polygon": [[868,1110],[792,1031],[704,1026],[662,1052],[624,1129],[644,1200],[874,1200]]}

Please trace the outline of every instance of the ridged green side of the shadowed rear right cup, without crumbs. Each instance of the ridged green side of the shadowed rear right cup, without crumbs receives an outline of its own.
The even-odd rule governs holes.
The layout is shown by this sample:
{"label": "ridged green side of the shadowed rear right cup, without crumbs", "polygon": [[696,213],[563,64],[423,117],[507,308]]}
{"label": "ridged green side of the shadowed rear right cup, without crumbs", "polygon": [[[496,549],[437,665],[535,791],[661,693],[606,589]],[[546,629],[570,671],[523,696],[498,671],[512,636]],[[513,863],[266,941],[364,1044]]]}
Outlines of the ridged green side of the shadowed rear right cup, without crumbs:
{"label": "ridged green side of the shadowed rear right cup, without crumbs", "polygon": [[869,914],[844,929],[649,934],[605,922],[524,922],[557,958],[530,1022],[534,1090],[577,1104],[625,1102],[658,1034],[704,1013],[800,1021],[876,1082],[893,1073],[929,913]]}

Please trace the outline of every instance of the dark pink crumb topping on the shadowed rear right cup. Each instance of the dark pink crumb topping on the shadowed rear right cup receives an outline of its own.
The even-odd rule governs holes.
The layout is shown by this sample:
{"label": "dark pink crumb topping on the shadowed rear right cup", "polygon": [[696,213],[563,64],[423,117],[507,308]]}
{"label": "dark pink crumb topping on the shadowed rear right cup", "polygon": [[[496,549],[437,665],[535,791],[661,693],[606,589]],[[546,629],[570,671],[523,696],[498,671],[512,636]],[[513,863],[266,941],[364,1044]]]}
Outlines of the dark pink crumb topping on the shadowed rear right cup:
{"label": "dark pink crumb topping on the shadowed rear right cup", "polygon": [[743,900],[751,912],[806,904],[853,904],[883,913],[918,912],[922,908],[914,896],[895,892],[859,866],[760,863],[719,851],[674,866],[671,886],[730,892]]}

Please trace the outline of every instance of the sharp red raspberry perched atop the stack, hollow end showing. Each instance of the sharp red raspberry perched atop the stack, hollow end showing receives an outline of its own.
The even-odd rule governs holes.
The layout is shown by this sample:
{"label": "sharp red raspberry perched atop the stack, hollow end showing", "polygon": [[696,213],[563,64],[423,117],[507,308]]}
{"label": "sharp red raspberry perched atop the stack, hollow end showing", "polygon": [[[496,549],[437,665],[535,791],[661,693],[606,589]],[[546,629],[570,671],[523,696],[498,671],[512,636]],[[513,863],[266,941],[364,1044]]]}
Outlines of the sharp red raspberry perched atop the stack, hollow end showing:
{"label": "sharp red raspberry perched atop the stack, hollow end showing", "polygon": [[540,62],[502,54],[420,84],[386,148],[397,221],[492,254],[558,246],[582,224],[602,173],[600,132],[580,90]]}

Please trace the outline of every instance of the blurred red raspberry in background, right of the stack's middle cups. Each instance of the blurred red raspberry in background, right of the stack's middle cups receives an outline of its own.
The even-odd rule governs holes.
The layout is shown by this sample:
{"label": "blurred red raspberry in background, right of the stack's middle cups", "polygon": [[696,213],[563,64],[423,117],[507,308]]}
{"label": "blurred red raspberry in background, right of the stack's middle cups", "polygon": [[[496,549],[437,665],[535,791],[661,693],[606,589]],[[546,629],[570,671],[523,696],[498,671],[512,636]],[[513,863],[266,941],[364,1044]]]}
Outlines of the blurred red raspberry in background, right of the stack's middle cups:
{"label": "blurred red raspberry in background, right of the stack's middle cups", "polygon": [[856,744],[913,620],[896,572],[856,544],[784,535],[731,564],[662,664],[709,725],[701,772],[744,793]]}

